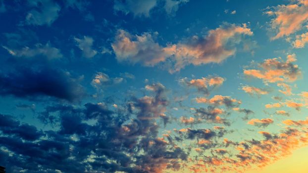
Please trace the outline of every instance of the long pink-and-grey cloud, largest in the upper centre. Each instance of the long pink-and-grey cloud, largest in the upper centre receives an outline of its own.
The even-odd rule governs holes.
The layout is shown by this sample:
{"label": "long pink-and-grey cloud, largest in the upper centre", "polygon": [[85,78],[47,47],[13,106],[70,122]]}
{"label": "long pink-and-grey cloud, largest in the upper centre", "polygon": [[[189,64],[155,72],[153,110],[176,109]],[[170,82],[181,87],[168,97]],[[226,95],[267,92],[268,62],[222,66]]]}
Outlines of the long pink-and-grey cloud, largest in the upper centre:
{"label": "long pink-and-grey cloud, largest in the upper centre", "polygon": [[155,32],[138,36],[119,30],[111,44],[116,59],[119,62],[141,63],[145,66],[154,66],[171,59],[174,65],[169,72],[174,73],[190,64],[223,62],[235,55],[236,45],[244,40],[245,35],[251,36],[253,32],[245,24],[225,24],[208,31],[205,37],[194,36],[187,41],[167,46],[154,41],[157,35]]}

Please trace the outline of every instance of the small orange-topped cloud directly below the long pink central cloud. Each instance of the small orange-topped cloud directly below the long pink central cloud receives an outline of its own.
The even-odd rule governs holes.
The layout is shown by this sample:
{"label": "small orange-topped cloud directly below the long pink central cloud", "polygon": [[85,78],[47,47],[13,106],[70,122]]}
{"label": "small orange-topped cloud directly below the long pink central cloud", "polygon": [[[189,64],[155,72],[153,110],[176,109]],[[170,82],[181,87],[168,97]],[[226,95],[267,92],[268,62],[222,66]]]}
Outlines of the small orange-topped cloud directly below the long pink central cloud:
{"label": "small orange-topped cloud directly below the long pink central cloud", "polygon": [[188,80],[187,78],[183,78],[179,80],[181,84],[185,84],[188,87],[196,87],[198,91],[204,92],[205,94],[209,94],[212,89],[221,86],[224,81],[225,79],[221,77],[211,76],[201,79]]}

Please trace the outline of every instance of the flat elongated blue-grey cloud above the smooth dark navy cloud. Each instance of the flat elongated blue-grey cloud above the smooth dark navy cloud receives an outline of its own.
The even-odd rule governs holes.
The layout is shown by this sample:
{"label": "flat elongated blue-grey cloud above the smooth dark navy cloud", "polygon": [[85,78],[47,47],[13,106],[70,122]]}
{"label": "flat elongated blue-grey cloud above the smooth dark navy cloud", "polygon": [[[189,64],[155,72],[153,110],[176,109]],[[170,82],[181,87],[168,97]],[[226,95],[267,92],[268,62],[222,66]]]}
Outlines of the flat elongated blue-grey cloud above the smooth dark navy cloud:
{"label": "flat elongated blue-grey cloud above the smooth dark navy cloud", "polygon": [[35,57],[35,56],[44,56],[48,59],[56,59],[61,58],[63,55],[60,50],[52,47],[50,43],[41,44],[37,43],[34,47],[23,47],[20,49],[10,49],[6,46],[2,46],[5,48],[9,54],[17,57]]}

